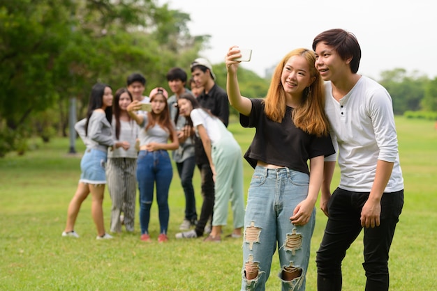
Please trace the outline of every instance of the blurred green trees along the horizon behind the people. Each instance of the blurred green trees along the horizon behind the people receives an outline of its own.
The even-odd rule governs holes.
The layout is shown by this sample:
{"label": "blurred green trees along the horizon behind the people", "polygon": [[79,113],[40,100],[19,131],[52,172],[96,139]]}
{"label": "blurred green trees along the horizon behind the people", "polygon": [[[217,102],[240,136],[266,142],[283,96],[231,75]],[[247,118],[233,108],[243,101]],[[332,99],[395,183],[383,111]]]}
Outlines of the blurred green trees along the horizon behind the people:
{"label": "blurred green trees along the horizon behind the people", "polygon": [[[154,0],[0,0],[0,157],[24,152],[30,136],[68,136],[75,98],[81,118],[93,84],[115,90],[131,72],[147,88],[164,86],[172,67],[186,68],[210,36],[191,36],[190,16]],[[241,68],[242,94],[263,97],[269,80]],[[224,63],[215,64],[225,88]],[[437,79],[405,70],[383,72],[394,111],[437,111]]]}

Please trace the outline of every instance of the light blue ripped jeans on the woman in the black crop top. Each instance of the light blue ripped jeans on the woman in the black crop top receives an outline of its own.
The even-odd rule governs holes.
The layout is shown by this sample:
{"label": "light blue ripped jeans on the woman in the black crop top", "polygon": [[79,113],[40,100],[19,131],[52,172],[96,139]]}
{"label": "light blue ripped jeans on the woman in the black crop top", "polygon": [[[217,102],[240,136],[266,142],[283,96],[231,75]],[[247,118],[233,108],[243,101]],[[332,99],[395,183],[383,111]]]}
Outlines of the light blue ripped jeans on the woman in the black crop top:
{"label": "light blue ripped jeans on the woman in the black crop top", "polygon": [[[308,185],[306,173],[256,166],[244,217],[242,290],[265,290],[276,246],[282,290],[305,290],[316,209],[304,226],[293,226],[290,217],[297,204],[306,198]],[[300,270],[302,275],[284,281],[281,274],[285,268]],[[246,272],[258,275],[246,280]]]}

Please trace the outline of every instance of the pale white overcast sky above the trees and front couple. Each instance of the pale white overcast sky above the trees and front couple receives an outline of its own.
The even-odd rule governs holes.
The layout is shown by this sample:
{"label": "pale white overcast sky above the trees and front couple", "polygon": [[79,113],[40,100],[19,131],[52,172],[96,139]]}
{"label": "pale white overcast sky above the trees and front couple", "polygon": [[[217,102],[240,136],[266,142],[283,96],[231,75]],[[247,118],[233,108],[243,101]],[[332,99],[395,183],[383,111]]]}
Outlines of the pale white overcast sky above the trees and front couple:
{"label": "pale white overcast sky above the trees and front couple", "polygon": [[159,0],[188,13],[191,35],[212,36],[201,52],[213,64],[231,45],[253,49],[243,67],[265,75],[290,50],[311,49],[327,29],[355,34],[362,49],[360,74],[417,70],[437,77],[437,16],[433,0]]}

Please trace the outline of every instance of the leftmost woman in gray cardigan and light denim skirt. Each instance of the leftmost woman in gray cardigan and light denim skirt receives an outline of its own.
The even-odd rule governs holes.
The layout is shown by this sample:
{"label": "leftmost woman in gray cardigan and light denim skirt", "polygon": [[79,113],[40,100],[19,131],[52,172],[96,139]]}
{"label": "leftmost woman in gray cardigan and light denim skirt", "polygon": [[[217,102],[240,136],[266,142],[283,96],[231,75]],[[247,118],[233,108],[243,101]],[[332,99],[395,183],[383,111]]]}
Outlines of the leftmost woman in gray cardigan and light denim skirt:
{"label": "leftmost woman in gray cardigan and light denim skirt", "polygon": [[[103,222],[103,194],[105,193],[105,164],[108,148],[114,148],[112,139],[112,89],[106,84],[96,84],[91,89],[87,118],[80,120],[75,129],[84,141],[87,150],[80,162],[79,184],[68,205],[66,228],[63,237],[79,237],[74,230],[80,206],[91,193],[91,215],[97,228],[97,239],[111,239],[105,233]],[[126,146],[126,145],[119,145]]]}

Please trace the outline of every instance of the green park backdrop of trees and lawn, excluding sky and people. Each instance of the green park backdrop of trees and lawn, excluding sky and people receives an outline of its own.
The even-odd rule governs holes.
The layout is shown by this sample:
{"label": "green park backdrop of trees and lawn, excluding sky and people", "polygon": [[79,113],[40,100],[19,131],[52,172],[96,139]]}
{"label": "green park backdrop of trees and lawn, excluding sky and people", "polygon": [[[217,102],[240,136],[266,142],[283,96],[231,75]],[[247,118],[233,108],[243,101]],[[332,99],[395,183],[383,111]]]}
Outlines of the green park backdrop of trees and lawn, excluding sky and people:
{"label": "green park backdrop of trees and lawn, excluding sky and people", "polygon": [[[71,138],[70,126],[84,117],[91,86],[103,81],[116,90],[125,86],[128,74],[142,72],[147,92],[168,88],[166,72],[174,66],[188,72],[208,46],[210,36],[192,36],[189,21],[187,13],[156,1],[0,1],[1,290],[239,289],[241,240],[210,245],[172,239],[184,213],[176,171],[168,244],[140,242],[138,219],[133,235],[96,242],[90,199],[77,220],[80,239],[61,237],[84,150]],[[213,67],[225,88],[224,64]],[[390,252],[391,290],[437,290],[437,78],[401,66],[371,77],[392,95],[405,179],[405,205]],[[262,97],[269,75],[260,77],[242,65],[239,81],[243,95]],[[253,132],[239,126],[234,110],[229,128],[244,152]],[[244,162],[245,191],[252,172]],[[333,187],[338,178],[336,171]],[[200,209],[198,171],[194,184]],[[108,192],[105,197],[108,228]],[[153,210],[156,237],[156,204]],[[314,258],[325,222],[318,210],[308,290],[316,290]],[[279,288],[276,257],[268,290]],[[357,239],[343,263],[343,290],[364,290],[361,263]]]}

